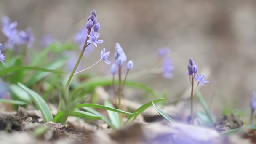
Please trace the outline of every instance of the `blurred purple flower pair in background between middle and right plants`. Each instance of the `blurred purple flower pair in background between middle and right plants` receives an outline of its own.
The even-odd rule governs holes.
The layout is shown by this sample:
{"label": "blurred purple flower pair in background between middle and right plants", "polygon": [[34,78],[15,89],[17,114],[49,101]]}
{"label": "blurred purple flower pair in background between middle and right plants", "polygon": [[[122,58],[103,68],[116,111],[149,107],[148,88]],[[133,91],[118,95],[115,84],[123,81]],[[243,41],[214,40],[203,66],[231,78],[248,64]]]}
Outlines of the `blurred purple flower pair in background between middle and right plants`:
{"label": "blurred purple flower pair in background between middle and right plants", "polygon": [[163,77],[166,79],[173,78],[173,64],[171,58],[167,57],[168,53],[170,52],[169,48],[160,48],[158,51],[158,58],[164,59],[163,60]]}

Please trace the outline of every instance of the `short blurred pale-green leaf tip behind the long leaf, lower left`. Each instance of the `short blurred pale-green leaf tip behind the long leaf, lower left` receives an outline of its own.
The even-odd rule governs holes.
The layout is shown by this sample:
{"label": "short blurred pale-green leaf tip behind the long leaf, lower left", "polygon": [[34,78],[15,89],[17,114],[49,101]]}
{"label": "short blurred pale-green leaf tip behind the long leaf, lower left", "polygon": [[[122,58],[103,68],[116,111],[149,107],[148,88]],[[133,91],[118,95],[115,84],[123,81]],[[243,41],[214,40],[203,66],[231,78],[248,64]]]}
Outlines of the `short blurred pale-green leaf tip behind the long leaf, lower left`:
{"label": "short blurred pale-green leaf tip behind the long leaf, lower left", "polygon": [[18,85],[10,85],[10,89],[18,99],[31,103],[29,94],[23,88],[19,87]]}

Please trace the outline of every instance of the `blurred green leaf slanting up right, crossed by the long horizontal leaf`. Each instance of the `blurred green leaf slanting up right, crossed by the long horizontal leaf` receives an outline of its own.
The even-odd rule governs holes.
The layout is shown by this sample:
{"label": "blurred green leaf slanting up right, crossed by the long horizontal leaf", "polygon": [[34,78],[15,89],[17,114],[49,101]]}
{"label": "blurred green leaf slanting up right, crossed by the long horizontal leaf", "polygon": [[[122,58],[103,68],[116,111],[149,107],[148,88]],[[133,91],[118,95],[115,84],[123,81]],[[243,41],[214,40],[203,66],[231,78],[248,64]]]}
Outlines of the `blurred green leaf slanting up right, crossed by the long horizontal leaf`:
{"label": "blurred green leaf slanting up right, crossed by the long horizontal leaf", "polygon": [[[59,69],[60,67],[62,67],[64,64],[66,64],[67,58],[61,58],[61,59],[57,59],[56,61],[51,62],[50,64],[48,64],[47,66],[45,66],[46,69]],[[51,74],[51,72],[37,72],[37,74],[35,74],[33,77],[31,77],[26,85],[27,86],[31,86],[34,85],[37,81],[42,80],[43,78],[45,78],[47,75]]]}

